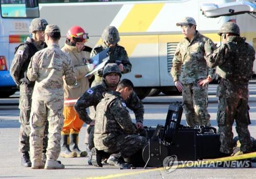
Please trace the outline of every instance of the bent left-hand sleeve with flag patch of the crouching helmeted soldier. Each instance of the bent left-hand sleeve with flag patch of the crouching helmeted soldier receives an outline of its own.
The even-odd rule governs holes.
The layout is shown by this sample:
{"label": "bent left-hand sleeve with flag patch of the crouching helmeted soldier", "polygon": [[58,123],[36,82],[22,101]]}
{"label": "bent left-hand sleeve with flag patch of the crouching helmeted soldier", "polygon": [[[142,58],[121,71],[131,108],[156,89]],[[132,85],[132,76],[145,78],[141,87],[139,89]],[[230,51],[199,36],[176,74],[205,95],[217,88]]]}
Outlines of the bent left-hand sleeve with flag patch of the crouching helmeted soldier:
{"label": "bent left-hand sleeve with flag patch of the crouching helmeted soldier", "polygon": [[79,118],[87,123],[90,124],[92,122],[92,119],[89,117],[86,108],[90,106],[96,106],[97,102],[96,97],[98,94],[93,91],[92,88],[88,89],[86,92],[80,96],[80,98],[76,101],[74,108],[76,110],[76,113],[78,114]]}

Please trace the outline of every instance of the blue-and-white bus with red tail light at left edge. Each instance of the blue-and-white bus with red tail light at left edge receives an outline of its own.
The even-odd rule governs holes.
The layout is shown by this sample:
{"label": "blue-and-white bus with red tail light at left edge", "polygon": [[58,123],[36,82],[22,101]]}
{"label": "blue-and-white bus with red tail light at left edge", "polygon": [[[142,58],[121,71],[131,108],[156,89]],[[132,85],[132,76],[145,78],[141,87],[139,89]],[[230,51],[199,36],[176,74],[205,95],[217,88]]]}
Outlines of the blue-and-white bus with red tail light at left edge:
{"label": "blue-and-white bus with red tail light at left edge", "polygon": [[9,71],[15,47],[29,36],[30,22],[39,17],[39,8],[33,0],[1,0],[0,3],[0,98],[5,98],[17,91]]}

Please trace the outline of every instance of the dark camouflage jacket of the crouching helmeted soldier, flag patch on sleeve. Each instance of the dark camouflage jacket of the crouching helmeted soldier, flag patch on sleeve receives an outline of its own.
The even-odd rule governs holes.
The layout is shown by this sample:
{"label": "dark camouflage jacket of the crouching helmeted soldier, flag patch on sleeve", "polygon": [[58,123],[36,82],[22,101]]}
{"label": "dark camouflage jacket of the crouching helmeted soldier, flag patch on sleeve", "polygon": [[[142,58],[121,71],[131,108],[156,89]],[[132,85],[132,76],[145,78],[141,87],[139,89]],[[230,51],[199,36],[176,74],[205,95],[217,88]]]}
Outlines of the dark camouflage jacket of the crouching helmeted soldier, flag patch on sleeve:
{"label": "dark camouflage jacket of the crouching helmeted soldier, flag patch on sleeve", "polygon": [[[104,92],[111,92],[111,89],[106,86],[105,82],[102,82],[99,85],[96,85],[92,88],[89,88],[82,96],[77,100],[75,104],[76,113],[79,115],[79,118],[87,124],[90,124],[92,120],[95,119],[95,110],[96,106],[103,98]],[[134,111],[136,122],[143,123],[144,115],[144,106],[140,101],[135,92],[132,92],[130,97],[125,100],[125,104],[131,110]],[[86,111],[86,108],[90,107],[90,117]]]}

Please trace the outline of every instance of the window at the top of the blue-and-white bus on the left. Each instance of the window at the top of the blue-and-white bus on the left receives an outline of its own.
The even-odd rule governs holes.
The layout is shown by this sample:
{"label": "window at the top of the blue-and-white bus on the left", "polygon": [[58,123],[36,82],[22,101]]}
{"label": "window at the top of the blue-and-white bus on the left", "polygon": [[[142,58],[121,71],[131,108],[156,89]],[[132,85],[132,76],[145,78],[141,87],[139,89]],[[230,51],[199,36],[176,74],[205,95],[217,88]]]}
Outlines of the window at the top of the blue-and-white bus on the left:
{"label": "window at the top of the blue-and-white bus on the left", "polygon": [[36,0],[1,0],[1,16],[3,18],[38,17],[38,2]]}

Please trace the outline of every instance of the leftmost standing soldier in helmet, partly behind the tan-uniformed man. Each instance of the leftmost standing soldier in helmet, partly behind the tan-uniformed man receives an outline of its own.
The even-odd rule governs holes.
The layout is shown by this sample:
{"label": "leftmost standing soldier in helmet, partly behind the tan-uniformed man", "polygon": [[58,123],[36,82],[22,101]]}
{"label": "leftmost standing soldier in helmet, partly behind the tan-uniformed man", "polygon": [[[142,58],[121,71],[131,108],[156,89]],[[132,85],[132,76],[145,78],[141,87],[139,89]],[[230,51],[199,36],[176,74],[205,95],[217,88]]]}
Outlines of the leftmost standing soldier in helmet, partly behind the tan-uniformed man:
{"label": "leftmost standing soldier in helmet, partly behind the tan-uniformed man", "polygon": [[[20,136],[19,136],[19,151],[22,152],[22,165],[25,167],[31,167],[29,159],[29,118],[31,111],[32,93],[34,88],[34,82],[31,82],[27,78],[27,69],[30,62],[30,58],[39,50],[46,47],[44,42],[44,31],[48,25],[45,19],[34,18],[31,21],[29,31],[32,34],[32,38],[28,37],[25,43],[19,45],[16,49],[14,59],[11,64],[10,74],[19,87],[19,122]],[[47,141],[47,130],[44,142]],[[47,144],[45,143],[44,149],[46,152]]]}

